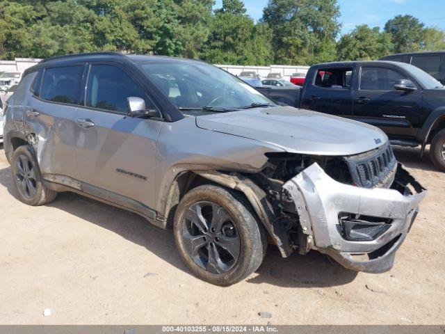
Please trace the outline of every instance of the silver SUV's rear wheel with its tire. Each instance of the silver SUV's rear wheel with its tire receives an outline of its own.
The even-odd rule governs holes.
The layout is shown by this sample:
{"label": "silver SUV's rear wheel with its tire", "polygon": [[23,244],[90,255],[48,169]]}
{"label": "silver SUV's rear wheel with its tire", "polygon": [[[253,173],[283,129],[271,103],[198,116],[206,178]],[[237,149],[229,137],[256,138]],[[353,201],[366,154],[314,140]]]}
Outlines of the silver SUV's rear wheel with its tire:
{"label": "silver SUV's rear wheel with its tire", "polygon": [[30,145],[19,146],[14,151],[11,172],[19,200],[27,205],[44,205],[56,198],[57,193],[47,189],[42,182],[40,168]]}

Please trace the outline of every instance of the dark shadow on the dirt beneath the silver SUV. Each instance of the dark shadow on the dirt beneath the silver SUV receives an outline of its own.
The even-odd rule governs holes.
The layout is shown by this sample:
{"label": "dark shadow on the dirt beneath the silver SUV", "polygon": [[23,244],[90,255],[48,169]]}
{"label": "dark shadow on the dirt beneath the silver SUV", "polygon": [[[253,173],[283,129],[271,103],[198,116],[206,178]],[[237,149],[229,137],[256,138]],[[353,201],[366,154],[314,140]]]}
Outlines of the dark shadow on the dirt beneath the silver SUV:
{"label": "dark shadow on the dirt beneath the silver SUV", "polygon": [[[17,198],[10,168],[0,170],[0,184],[6,187],[11,196]],[[75,193],[59,193],[56,200],[47,206],[115,232],[191,275],[177,252],[172,231],[156,228],[137,214]],[[350,283],[355,276],[357,273],[343,269],[321,253],[311,252],[304,256],[293,254],[284,259],[275,246],[269,246],[257,275],[247,281],[283,287],[330,287]]]}

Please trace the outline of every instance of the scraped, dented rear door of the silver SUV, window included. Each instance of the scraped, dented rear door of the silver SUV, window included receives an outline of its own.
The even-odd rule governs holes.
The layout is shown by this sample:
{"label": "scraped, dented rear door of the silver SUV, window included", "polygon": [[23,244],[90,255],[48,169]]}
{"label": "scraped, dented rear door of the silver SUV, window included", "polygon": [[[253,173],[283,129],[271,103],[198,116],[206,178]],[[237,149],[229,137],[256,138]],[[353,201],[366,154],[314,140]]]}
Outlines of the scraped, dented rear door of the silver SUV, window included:
{"label": "scraped, dented rear door of the silver SUV, window included", "polygon": [[79,129],[74,120],[84,70],[85,64],[41,69],[24,106],[26,136],[35,142],[42,175],[63,184],[70,183],[64,177],[79,178],[74,154]]}

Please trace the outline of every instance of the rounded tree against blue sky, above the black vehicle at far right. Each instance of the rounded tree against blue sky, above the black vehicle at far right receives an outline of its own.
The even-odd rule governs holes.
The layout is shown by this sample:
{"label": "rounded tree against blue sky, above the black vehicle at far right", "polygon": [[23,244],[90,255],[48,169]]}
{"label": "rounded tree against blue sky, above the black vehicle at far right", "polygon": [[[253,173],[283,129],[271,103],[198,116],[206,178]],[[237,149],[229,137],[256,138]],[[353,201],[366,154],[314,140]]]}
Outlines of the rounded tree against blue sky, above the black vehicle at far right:
{"label": "rounded tree against blue sky, above the black vehicle at far right", "polygon": [[385,31],[391,34],[394,51],[419,51],[425,37],[425,24],[412,15],[397,15],[385,24]]}

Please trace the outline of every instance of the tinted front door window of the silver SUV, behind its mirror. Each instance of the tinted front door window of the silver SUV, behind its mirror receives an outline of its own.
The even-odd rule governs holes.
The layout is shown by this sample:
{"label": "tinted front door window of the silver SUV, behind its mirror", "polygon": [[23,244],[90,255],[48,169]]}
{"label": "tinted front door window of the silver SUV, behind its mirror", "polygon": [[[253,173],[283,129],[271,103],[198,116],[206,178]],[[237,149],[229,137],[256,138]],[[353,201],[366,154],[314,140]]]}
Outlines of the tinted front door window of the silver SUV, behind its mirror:
{"label": "tinted front door window of the silver SUV, behind its mirror", "polygon": [[128,113],[127,97],[140,97],[152,108],[144,91],[119,67],[92,65],[88,77],[87,106]]}

